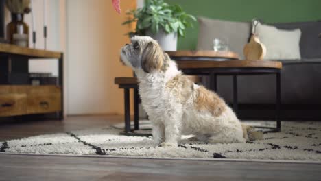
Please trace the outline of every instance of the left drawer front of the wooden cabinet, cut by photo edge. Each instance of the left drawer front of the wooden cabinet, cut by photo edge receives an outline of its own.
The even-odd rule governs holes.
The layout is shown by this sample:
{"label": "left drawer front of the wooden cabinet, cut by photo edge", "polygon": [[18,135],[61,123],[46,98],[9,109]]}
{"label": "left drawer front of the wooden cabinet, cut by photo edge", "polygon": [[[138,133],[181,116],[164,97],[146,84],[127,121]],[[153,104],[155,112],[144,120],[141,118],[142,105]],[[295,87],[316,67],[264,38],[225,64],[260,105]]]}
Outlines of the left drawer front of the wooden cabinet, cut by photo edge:
{"label": "left drawer front of the wooden cabinet, cut by photo edge", "polygon": [[26,94],[0,94],[0,116],[27,114]]}

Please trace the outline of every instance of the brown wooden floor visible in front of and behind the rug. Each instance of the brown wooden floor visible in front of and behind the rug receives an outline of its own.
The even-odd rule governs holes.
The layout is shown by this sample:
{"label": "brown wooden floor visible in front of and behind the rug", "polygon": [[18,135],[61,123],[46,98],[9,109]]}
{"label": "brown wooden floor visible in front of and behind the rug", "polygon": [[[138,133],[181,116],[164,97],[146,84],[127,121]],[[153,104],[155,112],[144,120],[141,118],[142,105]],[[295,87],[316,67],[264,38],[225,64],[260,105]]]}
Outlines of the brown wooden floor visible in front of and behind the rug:
{"label": "brown wooden floor visible in front of and behind the rug", "polygon": [[[122,117],[0,122],[0,140],[119,123]],[[321,180],[321,165],[0,154],[0,180]]]}

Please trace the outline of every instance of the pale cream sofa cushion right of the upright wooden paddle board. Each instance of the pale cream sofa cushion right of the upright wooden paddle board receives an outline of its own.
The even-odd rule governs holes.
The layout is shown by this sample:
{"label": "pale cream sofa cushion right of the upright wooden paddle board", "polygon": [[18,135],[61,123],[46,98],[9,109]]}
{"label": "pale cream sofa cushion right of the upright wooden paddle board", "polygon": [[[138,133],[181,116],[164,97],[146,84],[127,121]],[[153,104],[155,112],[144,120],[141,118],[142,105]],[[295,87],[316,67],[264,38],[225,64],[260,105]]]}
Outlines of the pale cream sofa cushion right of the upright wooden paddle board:
{"label": "pale cream sofa cushion right of the upright wooden paddle board", "polygon": [[283,30],[259,23],[256,33],[266,47],[264,60],[299,60],[300,29]]}

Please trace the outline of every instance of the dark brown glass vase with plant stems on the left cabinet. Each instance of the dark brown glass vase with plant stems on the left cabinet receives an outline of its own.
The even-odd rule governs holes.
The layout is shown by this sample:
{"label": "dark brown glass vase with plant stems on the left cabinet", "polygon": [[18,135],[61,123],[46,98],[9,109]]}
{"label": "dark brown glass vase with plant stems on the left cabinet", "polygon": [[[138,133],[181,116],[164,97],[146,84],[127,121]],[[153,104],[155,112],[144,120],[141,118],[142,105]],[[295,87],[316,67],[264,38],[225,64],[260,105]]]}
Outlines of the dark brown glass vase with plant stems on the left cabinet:
{"label": "dark brown glass vase with plant stems on the left cabinet", "polygon": [[30,12],[30,0],[7,0],[5,5],[11,12],[11,22],[7,25],[7,39],[11,44],[29,46],[29,26],[23,21],[23,14]]}

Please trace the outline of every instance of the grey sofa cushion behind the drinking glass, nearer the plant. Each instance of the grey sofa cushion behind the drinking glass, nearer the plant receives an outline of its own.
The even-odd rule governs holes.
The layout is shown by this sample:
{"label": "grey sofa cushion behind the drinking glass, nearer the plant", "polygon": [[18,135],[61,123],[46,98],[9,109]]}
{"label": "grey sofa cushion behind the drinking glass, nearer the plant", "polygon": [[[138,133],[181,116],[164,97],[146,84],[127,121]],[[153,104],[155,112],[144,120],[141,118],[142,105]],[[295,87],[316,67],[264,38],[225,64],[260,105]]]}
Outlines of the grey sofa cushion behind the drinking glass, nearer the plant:
{"label": "grey sofa cushion behind the drinking glass, nearer the plant", "polygon": [[213,50],[213,39],[226,39],[230,51],[234,51],[243,59],[243,47],[248,43],[250,23],[223,21],[198,17],[198,50]]}

